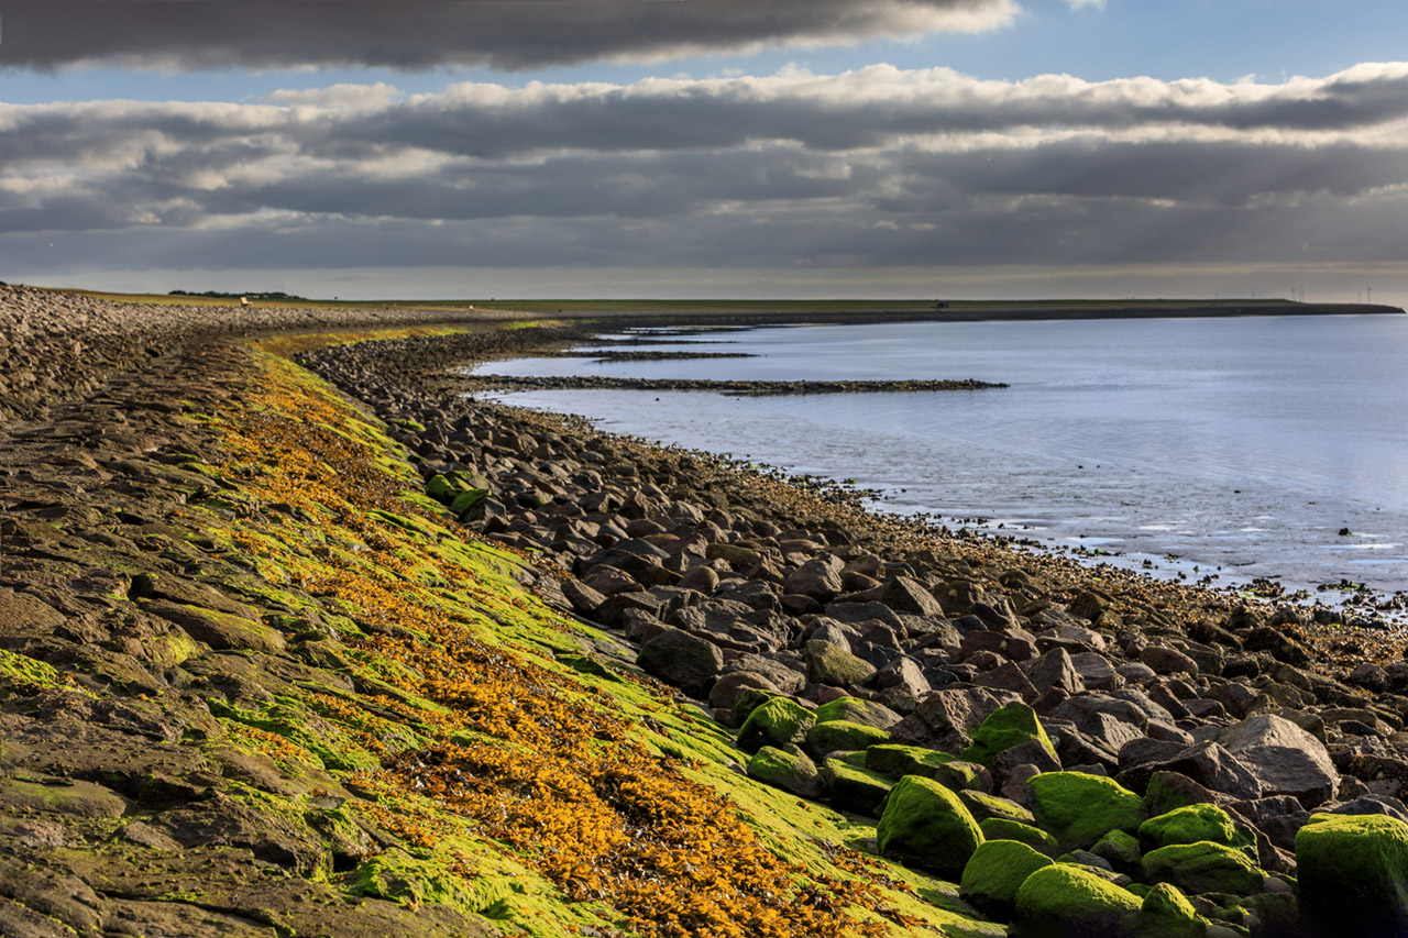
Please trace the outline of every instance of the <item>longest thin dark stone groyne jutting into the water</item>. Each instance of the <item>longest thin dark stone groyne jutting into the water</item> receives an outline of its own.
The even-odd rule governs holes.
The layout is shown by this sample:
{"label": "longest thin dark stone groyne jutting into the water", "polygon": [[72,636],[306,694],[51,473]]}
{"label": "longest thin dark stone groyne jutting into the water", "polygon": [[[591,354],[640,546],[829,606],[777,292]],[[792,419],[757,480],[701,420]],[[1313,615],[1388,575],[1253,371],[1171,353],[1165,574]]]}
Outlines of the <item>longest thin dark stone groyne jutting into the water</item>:
{"label": "longest thin dark stone groyne jutting into the water", "polygon": [[510,376],[474,375],[473,390],[707,390],[729,397],[780,394],[874,394],[895,392],[986,390],[1001,383],[960,380],[901,382],[715,382],[683,377],[598,377],[598,376]]}

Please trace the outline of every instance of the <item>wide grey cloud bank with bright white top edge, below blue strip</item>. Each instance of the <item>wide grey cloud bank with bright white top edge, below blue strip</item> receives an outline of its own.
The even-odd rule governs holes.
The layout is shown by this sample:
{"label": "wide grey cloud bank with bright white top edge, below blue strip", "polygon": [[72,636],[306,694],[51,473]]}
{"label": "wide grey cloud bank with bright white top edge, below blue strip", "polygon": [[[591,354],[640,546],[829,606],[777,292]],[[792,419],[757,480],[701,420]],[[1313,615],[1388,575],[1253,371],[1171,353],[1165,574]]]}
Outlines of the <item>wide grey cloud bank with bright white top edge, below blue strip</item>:
{"label": "wide grey cloud bank with bright white top edge, below blue strip", "polygon": [[1405,131],[1408,63],[1277,85],[873,66],[0,106],[0,256],[54,265],[59,242],[111,269],[1384,263],[1402,255]]}

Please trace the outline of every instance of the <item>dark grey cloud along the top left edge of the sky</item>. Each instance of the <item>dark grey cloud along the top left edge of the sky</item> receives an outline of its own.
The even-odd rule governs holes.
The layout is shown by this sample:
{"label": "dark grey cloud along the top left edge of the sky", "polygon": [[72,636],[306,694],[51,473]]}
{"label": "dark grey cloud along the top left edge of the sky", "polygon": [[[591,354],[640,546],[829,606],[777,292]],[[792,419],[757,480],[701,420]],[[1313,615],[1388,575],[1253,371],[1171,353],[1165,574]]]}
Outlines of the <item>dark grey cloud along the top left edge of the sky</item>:
{"label": "dark grey cloud along the top left edge of the sky", "polygon": [[972,31],[1014,11],[1014,0],[7,0],[0,62],[522,69]]}

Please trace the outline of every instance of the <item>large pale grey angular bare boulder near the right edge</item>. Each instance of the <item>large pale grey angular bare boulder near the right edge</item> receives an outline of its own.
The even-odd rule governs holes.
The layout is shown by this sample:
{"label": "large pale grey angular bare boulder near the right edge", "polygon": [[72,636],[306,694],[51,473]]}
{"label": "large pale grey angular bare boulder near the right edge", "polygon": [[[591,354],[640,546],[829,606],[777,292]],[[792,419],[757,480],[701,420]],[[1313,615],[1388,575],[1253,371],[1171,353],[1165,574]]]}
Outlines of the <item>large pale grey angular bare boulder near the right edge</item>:
{"label": "large pale grey angular bare boulder near the right edge", "polygon": [[1284,717],[1249,717],[1219,732],[1218,742],[1257,777],[1263,794],[1290,794],[1315,807],[1339,784],[1325,744]]}

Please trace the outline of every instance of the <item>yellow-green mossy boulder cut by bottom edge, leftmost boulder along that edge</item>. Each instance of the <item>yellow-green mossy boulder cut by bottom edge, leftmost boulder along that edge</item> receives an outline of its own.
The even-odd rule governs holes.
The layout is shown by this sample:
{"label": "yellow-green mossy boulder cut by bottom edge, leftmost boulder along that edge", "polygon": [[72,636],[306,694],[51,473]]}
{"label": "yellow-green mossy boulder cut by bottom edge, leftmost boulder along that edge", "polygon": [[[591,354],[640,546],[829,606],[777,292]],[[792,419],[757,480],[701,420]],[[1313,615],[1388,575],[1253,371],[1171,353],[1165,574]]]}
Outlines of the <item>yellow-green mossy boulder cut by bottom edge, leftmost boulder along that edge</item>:
{"label": "yellow-green mossy boulder cut by bottom edge, leftmost boulder along that edge", "polygon": [[1069,863],[1043,866],[1017,890],[1012,934],[1133,938],[1142,901],[1128,889]]}

